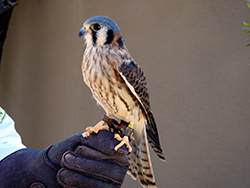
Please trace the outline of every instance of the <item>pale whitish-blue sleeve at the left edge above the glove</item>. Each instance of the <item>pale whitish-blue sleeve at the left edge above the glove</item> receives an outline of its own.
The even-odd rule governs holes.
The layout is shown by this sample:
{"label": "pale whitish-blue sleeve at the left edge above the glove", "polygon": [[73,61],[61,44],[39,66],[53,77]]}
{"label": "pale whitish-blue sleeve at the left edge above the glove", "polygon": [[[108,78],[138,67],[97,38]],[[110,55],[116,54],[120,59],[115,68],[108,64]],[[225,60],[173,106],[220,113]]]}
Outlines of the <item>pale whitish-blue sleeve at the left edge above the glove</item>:
{"label": "pale whitish-blue sleeve at the left edge above the glove", "polygon": [[15,129],[15,122],[0,107],[0,161],[22,148],[26,147]]}

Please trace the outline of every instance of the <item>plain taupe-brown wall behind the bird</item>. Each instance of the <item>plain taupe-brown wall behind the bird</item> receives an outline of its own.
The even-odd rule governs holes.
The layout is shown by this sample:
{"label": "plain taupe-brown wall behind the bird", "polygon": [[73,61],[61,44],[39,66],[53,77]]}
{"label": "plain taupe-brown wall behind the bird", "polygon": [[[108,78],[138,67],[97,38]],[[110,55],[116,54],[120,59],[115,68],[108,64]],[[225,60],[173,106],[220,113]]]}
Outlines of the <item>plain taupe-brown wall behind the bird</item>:
{"label": "plain taupe-brown wall behind the bird", "polygon": [[[158,187],[250,187],[250,22],[244,0],[18,1],[4,46],[0,105],[23,142],[45,148],[103,110],[85,86],[82,23],[106,15],[143,68],[164,163],[151,152]],[[126,177],[123,187],[139,188]]]}

